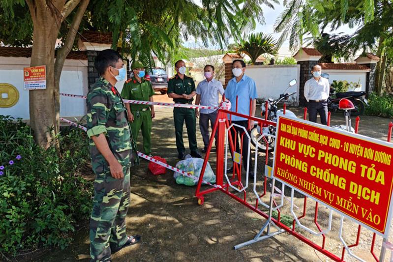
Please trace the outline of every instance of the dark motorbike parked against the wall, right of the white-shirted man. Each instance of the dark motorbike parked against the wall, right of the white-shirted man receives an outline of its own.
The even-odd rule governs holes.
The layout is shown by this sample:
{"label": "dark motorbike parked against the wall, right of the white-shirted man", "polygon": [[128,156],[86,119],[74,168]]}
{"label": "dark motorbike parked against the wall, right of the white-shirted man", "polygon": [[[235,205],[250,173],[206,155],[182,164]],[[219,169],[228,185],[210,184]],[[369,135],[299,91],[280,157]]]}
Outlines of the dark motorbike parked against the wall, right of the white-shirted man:
{"label": "dark motorbike parked against the wall, right of the white-shirted man", "polygon": [[[329,74],[328,73],[322,73],[322,77],[329,79]],[[336,93],[335,89],[331,86],[330,87],[330,94],[328,98],[328,110],[330,112],[337,112],[341,111],[338,108],[338,103],[342,98],[346,98],[351,100],[351,102],[354,104],[355,109],[351,110],[351,115],[352,116],[359,116],[364,113],[365,106],[368,106],[368,101],[365,98],[365,91],[348,91],[348,92],[339,92]]]}

